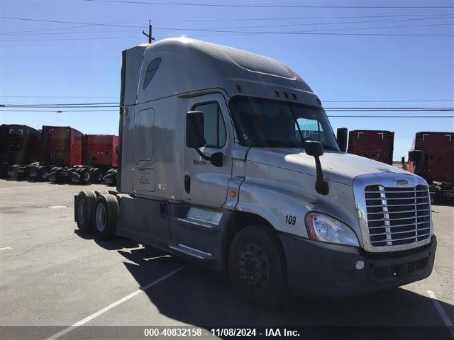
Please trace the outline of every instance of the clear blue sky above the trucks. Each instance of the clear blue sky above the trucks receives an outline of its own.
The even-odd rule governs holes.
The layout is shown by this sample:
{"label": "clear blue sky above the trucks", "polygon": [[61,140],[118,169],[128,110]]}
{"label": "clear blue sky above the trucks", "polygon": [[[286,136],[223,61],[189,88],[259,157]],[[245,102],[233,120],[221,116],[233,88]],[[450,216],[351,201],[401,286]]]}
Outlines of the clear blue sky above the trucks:
{"label": "clear blue sky above the trucks", "polygon": [[[157,40],[197,38],[287,64],[325,107],[454,106],[453,1],[132,2],[1,0],[0,103],[118,102],[121,51],[147,42],[141,32],[148,30],[150,19]],[[203,4],[211,6],[194,6]],[[84,133],[118,133],[118,111],[5,110],[0,108],[2,124],[37,129],[70,125]],[[402,115],[431,118],[330,117],[330,121],[334,130],[394,131],[395,160],[407,157],[415,132],[454,131],[453,118],[433,117],[453,112]]]}

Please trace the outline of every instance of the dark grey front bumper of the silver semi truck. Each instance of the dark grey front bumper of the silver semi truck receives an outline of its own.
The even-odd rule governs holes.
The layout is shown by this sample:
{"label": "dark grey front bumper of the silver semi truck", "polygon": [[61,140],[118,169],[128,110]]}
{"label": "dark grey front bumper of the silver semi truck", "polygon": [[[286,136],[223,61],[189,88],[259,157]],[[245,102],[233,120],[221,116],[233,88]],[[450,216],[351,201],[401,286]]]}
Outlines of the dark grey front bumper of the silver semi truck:
{"label": "dark grey front bumper of the silver semi truck", "polygon": [[[351,246],[279,234],[289,288],[296,295],[361,295],[399,287],[431,275],[437,246],[371,254]],[[361,262],[362,261],[362,262]]]}

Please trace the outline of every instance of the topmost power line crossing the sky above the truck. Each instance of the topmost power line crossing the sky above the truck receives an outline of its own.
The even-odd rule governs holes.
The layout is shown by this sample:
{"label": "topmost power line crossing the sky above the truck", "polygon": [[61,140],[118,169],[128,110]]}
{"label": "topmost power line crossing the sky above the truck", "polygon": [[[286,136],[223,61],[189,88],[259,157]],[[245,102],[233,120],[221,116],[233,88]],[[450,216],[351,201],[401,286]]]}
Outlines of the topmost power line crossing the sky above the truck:
{"label": "topmost power line crossing the sky above the truck", "polygon": [[119,4],[145,4],[167,6],[201,6],[201,7],[246,7],[246,8],[454,8],[453,6],[339,6],[339,5],[264,5],[264,4],[194,4],[189,2],[162,1],[126,1],[126,0],[82,0],[87,2],[105,2]]}

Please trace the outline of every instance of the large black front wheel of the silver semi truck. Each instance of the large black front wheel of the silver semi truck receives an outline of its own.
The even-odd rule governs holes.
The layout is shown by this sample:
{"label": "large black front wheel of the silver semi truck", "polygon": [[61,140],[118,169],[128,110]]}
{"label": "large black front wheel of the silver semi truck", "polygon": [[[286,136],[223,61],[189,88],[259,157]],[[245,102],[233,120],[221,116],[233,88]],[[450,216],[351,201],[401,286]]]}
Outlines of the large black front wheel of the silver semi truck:
{"label": "large black front wheel of the silver semi truck", "polygon": [[287,301],[285,256],[271,229],[241,229],[233,238],[228,267],[233,290],[244,300],[261,307],[277,307]]}

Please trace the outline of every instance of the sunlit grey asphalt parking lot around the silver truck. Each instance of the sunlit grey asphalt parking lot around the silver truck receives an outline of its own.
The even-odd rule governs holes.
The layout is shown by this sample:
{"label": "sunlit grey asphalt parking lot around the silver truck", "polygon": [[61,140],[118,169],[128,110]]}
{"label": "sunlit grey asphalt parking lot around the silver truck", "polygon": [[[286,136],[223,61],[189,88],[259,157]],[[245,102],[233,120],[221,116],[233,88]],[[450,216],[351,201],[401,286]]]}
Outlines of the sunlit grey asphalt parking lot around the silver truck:
{"label": "sunlit grey asphalt parking lot around the silver truck", "polygon": [[426,280],[341,300],[295,297],[265,311],[237,300],[217,273],[127,239],[79,233],[73,196],[83,188],[0,180],[0,326],[28,326],[4,327],[3,339],[90,339],[102,328],[92,326],[208,325],[427,327],[432,339],[454,339],[453,207],[433,206],[438,250]]}

